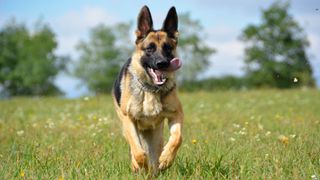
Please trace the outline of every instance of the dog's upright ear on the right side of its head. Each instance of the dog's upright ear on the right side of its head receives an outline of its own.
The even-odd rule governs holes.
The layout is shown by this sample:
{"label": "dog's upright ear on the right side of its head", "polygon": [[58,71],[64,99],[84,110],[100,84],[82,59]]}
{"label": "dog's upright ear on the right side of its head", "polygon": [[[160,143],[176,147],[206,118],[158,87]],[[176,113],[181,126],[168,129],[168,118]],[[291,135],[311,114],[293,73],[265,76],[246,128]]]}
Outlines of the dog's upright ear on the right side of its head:
{"label": "dog's upright ear on the right side of its head", "polygon": [[178,15],[174,6],[170,8],[161,30],[167,32],[171,38],[178,37]]}

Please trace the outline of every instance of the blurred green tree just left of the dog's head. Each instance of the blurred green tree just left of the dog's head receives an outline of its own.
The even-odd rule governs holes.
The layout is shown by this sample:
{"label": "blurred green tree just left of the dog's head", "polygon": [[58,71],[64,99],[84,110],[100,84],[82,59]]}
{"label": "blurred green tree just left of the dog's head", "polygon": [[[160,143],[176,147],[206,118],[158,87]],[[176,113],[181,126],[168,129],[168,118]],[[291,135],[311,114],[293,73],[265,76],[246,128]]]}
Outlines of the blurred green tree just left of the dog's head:
{"label": "blurred green tree just left of the dog's head", "polygon": [[90,31],[89,41],[80,41],[80,59],[74,74],[95,93],[109,92],[121,65],[130,57],[134,45],[130,42],[131,23],[114,28],[98,25]]}

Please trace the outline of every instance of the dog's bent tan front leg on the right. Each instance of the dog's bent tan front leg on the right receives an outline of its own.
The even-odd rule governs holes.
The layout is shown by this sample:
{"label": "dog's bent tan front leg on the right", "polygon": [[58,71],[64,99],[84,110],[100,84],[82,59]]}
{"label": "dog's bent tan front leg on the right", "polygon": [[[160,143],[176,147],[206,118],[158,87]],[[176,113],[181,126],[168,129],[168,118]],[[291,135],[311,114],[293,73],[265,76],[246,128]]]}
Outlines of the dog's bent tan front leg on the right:
{"label": "dog's bent tan front leg on the right", "polygon": [[182,110],[176,113],[175,116],[168,119],[170,137],[168,143],[163,148],[163,151],[159,158],[159,169],[163,170],[169,167],[181,145],[182,142],[182,123],[183,123],[183,113]]}

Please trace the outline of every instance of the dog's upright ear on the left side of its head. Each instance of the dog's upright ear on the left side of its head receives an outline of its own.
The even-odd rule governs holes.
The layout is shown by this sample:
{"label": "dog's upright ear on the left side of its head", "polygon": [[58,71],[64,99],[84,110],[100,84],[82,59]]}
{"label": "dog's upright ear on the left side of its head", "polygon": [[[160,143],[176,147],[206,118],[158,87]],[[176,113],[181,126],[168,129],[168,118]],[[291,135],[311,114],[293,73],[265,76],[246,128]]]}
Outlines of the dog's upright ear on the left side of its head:
{"label": "dog's upright ear on the left side of its head", "polygon": [[143,6],[138,16],[137,40],[145,38],[153,30],[153,22],[148,6]]}

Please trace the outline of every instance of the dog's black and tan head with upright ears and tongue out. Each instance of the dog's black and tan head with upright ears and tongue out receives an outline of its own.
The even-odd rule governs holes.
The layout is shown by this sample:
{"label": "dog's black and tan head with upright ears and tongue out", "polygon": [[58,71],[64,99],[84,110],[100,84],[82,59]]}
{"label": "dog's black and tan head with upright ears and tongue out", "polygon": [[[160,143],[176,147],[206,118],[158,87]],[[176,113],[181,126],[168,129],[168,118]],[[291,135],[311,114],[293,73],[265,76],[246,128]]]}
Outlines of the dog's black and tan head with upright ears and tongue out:
{"label": "dog's black and tan head with upright ears and tongue out", "polygon": [[139,64],[156,86],[166,83],[172,72],[181,67],[176,57],[178,43],[178,16],[171,7],[160,30],[153,29],[151,13],[144,6],[138,16],[136,31],[136,54]]}

